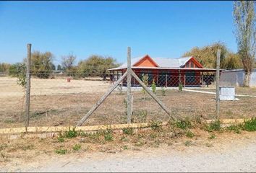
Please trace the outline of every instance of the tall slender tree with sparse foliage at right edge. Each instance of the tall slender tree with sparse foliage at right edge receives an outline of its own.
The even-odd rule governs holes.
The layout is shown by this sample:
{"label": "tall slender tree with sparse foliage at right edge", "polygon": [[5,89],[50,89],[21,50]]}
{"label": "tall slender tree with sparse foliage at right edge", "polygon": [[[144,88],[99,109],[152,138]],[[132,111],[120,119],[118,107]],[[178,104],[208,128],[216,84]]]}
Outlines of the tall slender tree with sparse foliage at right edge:
{"label": "tall slender tree with sparse foliage at right edge", "polygon": [[249,86],[255,66],[255,4],[254,1],[234,1],[234,25],[239,58],[244,66],[244,86]]}

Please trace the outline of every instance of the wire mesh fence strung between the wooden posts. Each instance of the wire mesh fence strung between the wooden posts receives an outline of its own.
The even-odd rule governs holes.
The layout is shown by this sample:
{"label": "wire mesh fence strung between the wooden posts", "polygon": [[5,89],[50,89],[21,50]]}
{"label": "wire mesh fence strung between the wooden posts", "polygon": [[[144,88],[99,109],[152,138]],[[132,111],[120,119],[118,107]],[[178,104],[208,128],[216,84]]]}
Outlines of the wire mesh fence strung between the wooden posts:
{"label": "wire mesh fence strung between the wooden posts", "polygon": [[[30,126],[75,125],[113,86],[119,76],[84,77],[83,73],[31,71]],[[17,84],[17,74],[0,72],[1,128],[24,127],[25,88]],[[171,75],[136,73],[163,102],[172,115],[213,119],[216,114],[216,85],[213,75]],[[148,77],[145,77],[148,75]],[[43,78],[43,79],[42,79]],[[145,80],[147,79],[147,80]],[[232,80],[232,79],[229,79]],[[226,84],[225,84],[226,85]],[[93,112],[84,125],[127,123],[127,79]],[[180,87],[179,87],[180,86]],[[181,91],[182,90],[182,91]],[[193,90],[197,92],[189,92]],[[209,93],[213,94],[209,94]],[[236,88],[236,94],[256,96],[255,88]],[[165,121],[169,117],[132,77],[132,123]],[[236,97],[221,101],[221,118],[255,117],[256,97]]]}

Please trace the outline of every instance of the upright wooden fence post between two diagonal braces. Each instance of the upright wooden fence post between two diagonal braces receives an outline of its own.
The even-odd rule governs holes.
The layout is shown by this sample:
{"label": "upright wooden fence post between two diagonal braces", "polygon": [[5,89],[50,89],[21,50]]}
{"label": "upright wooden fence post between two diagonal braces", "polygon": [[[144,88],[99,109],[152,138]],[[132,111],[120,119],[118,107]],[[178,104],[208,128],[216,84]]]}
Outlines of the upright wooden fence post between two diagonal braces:
{"label": "upright wooden fence post between two diagonal braces", "polygon": [[131,93],[131,48],[127,48],[127,123],[131,123],[132,93]]}

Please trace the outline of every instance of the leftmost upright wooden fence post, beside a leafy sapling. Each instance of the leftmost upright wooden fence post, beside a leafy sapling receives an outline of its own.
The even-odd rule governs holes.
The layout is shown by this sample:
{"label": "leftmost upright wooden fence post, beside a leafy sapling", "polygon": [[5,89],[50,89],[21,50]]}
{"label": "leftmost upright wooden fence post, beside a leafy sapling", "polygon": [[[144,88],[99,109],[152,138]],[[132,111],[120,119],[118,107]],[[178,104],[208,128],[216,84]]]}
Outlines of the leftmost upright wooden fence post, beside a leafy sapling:
{"label": "leftmost upright wooden fence post, beside a leafy sapling", "polygon": [[26,71],[26,117],[25,128],[30,125],[30,58],[31,58],[31,44],[27,44],[27,71]]}

